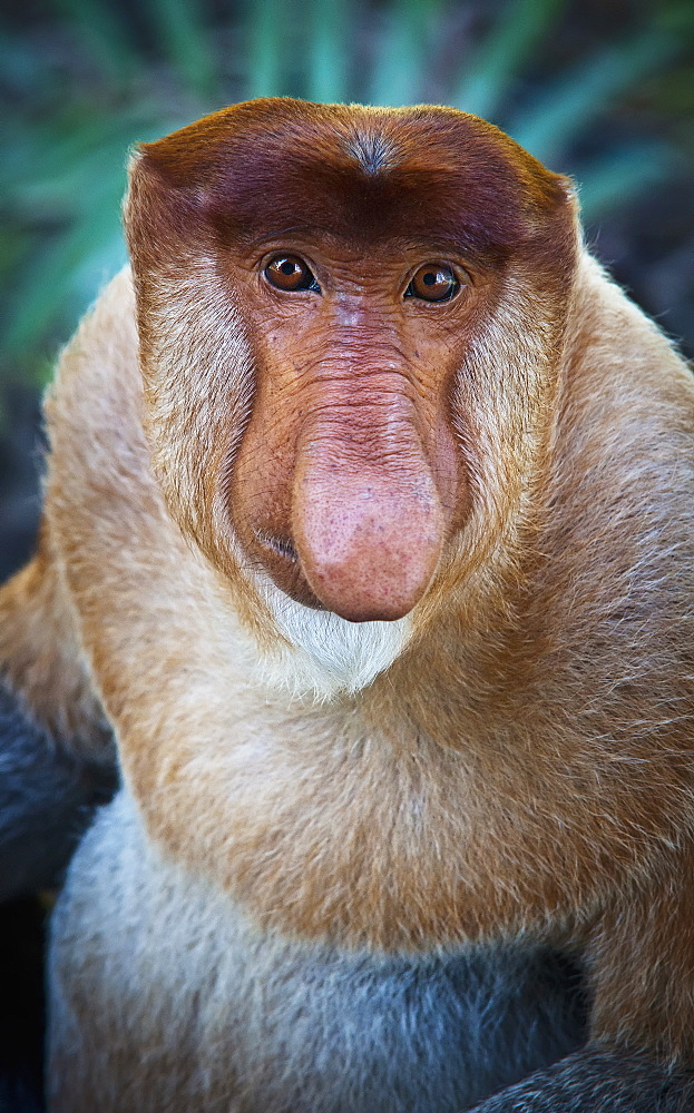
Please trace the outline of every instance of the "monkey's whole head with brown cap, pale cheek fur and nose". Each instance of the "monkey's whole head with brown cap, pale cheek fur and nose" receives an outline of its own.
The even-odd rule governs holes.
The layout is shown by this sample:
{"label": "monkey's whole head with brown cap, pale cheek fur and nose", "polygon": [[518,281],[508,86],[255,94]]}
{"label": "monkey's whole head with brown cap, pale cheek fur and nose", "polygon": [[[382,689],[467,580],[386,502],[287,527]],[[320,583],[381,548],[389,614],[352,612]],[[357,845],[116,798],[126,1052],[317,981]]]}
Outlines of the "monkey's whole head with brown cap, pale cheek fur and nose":
{"label": "monkey's whole head with brown cap, pale cheek fur and nose", "polygon": [[576,230],[501,132],[240,105],[144,148],[128,235],[155,470],[231,580],[399,619],[522,519]]}

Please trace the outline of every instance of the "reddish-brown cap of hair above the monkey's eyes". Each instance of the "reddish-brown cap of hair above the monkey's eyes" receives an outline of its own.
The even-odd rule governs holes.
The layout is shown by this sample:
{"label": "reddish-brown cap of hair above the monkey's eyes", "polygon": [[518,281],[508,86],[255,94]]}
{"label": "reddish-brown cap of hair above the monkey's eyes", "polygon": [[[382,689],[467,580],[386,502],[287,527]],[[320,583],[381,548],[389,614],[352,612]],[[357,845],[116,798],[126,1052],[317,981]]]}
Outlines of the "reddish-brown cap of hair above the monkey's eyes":
{"label": "reddish-brown cap of hair above the monkey's eyes", "polygon": [[499,259],[567,208],[566,179],[483,120],[432,106],[247,101],[141,152],[178,210],[229,240],[301,226]]}

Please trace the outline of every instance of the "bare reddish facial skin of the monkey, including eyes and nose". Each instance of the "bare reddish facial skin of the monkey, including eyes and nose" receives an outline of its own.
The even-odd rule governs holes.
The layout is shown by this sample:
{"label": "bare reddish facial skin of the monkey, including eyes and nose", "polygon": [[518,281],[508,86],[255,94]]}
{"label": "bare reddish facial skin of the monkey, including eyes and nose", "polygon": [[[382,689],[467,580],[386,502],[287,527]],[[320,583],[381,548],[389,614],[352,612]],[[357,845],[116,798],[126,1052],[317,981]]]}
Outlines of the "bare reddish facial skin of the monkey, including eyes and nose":
{"label": "bare reddish facial skin of the monkey, including eyes and nose", "polygon": [[[352,620],[400,618],[466,510],[444,414],[475,290],[459,263],[427,269],[429,245],[366,252],[314,228],[282,239],[228,264],[257,367],[233,520],[299,601]],[[283,259],[305,285],[278,285]],[[420,272],[440,287],[418,279],[430,301],[413,292]]]}

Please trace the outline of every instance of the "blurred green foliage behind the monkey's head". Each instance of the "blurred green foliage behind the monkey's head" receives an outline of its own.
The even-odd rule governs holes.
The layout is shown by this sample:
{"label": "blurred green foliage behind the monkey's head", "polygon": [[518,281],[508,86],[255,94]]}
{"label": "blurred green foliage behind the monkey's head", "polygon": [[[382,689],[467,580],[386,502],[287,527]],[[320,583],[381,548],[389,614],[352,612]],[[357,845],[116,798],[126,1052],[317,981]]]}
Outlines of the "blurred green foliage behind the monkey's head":
{"label": "blurred green foliage behind the monkey's head", "polygon": [[0,28],[0,394],[124,262],[128,148],[246,97],[477,112],[577,178],[592,229],[694,186],[690,0],[30,0]]}

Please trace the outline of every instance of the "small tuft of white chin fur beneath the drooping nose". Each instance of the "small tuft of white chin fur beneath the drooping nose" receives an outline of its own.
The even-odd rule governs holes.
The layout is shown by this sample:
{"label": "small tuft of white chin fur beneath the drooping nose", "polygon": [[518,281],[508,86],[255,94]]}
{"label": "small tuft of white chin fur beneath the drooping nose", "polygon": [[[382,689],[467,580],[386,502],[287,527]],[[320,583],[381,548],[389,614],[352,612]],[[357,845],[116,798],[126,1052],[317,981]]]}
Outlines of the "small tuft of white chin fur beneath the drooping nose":
{"label": "small tuft of white chin fur beneath the drooping nose", "polygon": [[272,688],[320,700],[360,691],[393,663],[408,642],[407,615],[394,622],[348,622],[295,602],[265,577],[254,579],[291,642],[263,653],[263,679]]}

